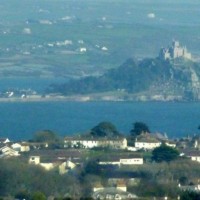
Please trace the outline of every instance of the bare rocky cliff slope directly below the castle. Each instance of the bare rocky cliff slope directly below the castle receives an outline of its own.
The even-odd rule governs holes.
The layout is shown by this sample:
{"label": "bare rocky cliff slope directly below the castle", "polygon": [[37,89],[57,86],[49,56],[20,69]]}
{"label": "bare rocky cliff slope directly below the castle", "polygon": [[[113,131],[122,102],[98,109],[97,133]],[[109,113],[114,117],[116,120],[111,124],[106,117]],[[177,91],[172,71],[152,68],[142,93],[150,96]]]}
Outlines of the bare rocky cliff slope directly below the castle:
{"label": "bare rocky cliff slope directly below the castle", "polygon": [[151,73],[155,78],[150,82],[146,91],[136,98],[147,100],[200,100],[200,66],[184,59],[176,59],[165,66],[164,62],[154,65],[159,68]]}

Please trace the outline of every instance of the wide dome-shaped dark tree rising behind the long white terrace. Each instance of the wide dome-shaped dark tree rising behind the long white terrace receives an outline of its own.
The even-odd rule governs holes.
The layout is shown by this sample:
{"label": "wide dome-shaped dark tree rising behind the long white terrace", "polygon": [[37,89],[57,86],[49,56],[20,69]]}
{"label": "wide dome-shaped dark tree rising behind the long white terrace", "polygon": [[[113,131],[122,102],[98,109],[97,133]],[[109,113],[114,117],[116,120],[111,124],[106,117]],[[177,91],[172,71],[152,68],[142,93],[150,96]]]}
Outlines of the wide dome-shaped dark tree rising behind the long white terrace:
{"label": "wide dome-shaped dark tree rising behind the long white terrace", "polygon": [[95,137],[114,137],[120,134],[112,123],[101,122],[91,129],[91,135]]}

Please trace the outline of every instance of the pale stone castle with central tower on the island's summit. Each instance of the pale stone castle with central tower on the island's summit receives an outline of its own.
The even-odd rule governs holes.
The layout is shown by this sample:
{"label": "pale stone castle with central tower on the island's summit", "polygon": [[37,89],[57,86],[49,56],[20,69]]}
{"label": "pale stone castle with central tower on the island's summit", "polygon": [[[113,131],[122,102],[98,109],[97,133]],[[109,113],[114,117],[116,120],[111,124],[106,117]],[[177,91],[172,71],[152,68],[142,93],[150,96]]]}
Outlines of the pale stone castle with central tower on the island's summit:
{"label": "pale stone castle with central tower on the island's summit", "polygon": [[159,58],[164,60],[172,60],[175,58],[192,59],[192,55],[187,51],[186,47],[180,46],[178,41],[173,41],[172,46],[160,50]]}

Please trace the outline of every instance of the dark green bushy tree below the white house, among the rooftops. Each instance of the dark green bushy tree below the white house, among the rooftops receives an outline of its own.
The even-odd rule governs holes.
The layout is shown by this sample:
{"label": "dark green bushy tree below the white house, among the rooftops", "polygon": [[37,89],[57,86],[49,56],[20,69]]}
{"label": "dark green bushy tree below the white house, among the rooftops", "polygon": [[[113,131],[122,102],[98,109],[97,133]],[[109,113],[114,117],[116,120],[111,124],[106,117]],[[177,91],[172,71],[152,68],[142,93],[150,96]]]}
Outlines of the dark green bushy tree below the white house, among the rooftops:
{"label": "dark green bushy tree below the white house, among the rooftops", "polygon": [[169,147],[165,144],[160,147],[155,148],[152,151],[152,160],[156,162],[170,162],[172,160],[177,159],[179,156],[179,152],[177,149]]}

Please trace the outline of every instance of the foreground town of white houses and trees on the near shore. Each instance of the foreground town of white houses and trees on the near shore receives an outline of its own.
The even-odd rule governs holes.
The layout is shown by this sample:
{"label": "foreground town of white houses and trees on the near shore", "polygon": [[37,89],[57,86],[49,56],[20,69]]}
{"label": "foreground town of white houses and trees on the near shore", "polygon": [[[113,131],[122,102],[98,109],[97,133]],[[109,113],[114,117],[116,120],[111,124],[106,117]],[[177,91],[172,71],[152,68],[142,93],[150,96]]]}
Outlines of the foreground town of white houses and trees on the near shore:
{"label": "foreground town of white houses and trees on the near shore", "polygon": [[199,166],[200,135],[172,140],[142,122],[129,135],[110,122],[73,137],[44,130],[29,141],[0,139],[0,196],[184,199],[200,194]]}

